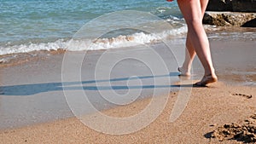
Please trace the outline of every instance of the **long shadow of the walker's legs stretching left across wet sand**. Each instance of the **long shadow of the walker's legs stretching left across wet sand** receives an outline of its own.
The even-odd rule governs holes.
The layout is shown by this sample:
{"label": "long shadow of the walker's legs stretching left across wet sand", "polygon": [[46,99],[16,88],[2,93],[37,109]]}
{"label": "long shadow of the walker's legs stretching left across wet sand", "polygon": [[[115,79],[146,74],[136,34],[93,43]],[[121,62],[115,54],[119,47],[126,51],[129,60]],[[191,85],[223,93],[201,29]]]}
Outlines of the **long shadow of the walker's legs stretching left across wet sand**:
{"label": "long shadow of the walker's legs stretching left across wet sand", "polygon": [[193,84],[171,84],[171,85],[136,85],[136,86],[72,86],[75,84],[96,84],[104,82],[117,82],[117,81],[128,81],[132,79],[145,79],[145,78],[167,78],[167,77],[178,77],[178,72],[170,72],[170,74],[159,75],[159,76],[143,76],[137,78],[113,78],[105,80],[89,80],[81,82],[59,82],[59,83],[46,83],[46,84],[21,84],[21,85],[10,85],[0,86],[0,95],[35,95],[38,93],[44,93],[49,91],[63,90],[110,90],[110,89],[155,89],[155,88],[179,88],[179,87],[195,87]]}

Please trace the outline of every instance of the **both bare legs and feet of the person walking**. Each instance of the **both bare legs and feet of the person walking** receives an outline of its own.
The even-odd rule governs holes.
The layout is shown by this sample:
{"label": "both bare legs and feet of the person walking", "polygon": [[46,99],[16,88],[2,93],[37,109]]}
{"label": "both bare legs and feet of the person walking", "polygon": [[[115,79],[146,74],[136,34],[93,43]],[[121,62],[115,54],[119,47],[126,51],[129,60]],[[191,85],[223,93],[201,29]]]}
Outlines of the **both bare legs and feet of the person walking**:
{"label": "both bare legs and feet of the person walking", "polygon": [[189,76],[192,61],[198,55],[205,69],[204,77],[196,85],[207,85],[218,81],[212,65],[212,56],[207,33],[202,25],[203,15],[207,9],[208,0],[177,0],[179,9],[188,25],[185,60],[178,71],[182,76]]}

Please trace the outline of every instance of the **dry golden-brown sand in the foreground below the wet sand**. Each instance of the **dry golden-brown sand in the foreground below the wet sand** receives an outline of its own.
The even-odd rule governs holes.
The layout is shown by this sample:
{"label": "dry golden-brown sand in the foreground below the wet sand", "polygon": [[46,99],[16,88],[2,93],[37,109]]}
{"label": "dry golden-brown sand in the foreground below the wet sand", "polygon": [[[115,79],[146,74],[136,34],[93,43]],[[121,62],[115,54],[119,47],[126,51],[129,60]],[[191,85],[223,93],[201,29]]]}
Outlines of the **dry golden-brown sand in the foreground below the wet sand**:
{"label": "dry golden-brown sand in the foreground below the wet sand", "polygon": [[[241,94],[241,95],[239,95]],[[183,114],[173,123],[169,121],[177,93],[169,95],[165,110],[143,130],[129,135],[107,135],[91,130],[77,118],[36,124],[0,133],[1,143],[215,143],[211,132],[223,124],[241,123],[256,112],[256,89],[222,83],[208,88],[193,88]],[[252,95],[245,96],[245,95]],[[125,107],[105,111],[113,117],[139,112],[150,99],[136,101]],[[127,116],[126,115],[126,116]],[[224,143],[236,143],[236,140]]]}

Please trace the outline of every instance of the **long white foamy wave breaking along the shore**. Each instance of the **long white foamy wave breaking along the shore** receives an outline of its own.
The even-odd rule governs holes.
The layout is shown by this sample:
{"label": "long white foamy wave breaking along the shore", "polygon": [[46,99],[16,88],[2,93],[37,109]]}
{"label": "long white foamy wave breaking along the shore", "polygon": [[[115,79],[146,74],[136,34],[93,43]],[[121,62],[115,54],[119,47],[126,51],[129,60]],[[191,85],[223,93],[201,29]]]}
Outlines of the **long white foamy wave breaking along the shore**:
{"label": "long white foamy wave breaking along the shore", "polygon": [[131,47],[146,43],[155,43],[160,40],[172,37],[182,37],[187,31],[186,26],[177,29],[164,31],[160,33],[137,32],[131,35],[119,35],[118,37],[82,39],[82,40],[64,40],[59,39],[51,43],[24,43],[13,46],[0,46],[0,55],[9,55],[16,53],[29,53],[39,50],[57,50],[64,49],[69,51],[80,50],[100,50],[100,49],[118,49]]}

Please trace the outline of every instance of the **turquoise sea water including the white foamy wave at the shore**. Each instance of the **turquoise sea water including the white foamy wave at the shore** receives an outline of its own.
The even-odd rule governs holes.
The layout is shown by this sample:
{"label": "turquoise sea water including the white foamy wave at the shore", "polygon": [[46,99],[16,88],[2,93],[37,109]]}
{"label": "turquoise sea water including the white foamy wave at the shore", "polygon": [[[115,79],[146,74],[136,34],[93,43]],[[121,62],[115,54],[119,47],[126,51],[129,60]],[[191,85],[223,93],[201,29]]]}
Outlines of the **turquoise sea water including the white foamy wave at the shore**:
{"label": "turquoise sea water including the white foamy wave at the shore", "polygon": [[[113,13],[125,14],[133,12],[131,20],[119,20],[119,17],[106,15]],[[138,12],[138,15],[134,14]],[[143,12],[145,16],[139,15]],[[148,15],[147,15],[148,14]],[[152,16],[154,15],[154,16]],[[166,27],[157,27],[160,20],[170,24]],[[93,31],[84,31],[87,36],[93,36],[96,32],[102,37],[87,38],[83,44],[93,42],[90,47],[73,49],[68,43],[76,37],[76,33],[82,27],[86,27],[91,21],[94,22]],[[149,26],[154,23],[151,32],[137,29],[109,30],[109,26],[119,26],[120,23],[130,22],[132,26]],[[170,28],[172,27],[172,28]],[[214,32],[222,29],[221,32]],[[255,39],[255,30],[249,32],[226,32],[225,28],[207,26],[209,36],[215,39]],[[163,38],[185,37],[187,27],[183,15],[178,9],[177,2],[166,0],[0,0],[0,57],[9,54],[27,54],[32,51],[42,50],[97,50],[116,49],[129,47],[134,44],[152,43]],[[13,56],[12,58],[15,58]],[[6,58],[1,58],[0,62]]]}

